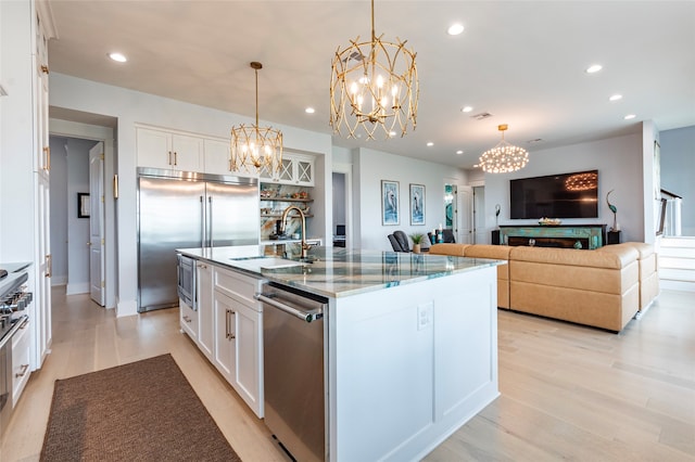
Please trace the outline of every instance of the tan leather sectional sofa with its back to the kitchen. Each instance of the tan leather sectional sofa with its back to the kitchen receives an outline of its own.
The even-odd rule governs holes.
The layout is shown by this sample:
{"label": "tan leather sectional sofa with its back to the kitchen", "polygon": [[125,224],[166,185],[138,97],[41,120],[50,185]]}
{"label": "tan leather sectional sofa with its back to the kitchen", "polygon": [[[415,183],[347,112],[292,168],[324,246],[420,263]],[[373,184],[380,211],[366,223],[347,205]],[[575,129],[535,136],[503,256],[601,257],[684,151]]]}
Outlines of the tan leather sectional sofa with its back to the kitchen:
{"label": "tan leather sectional sofa with its back to the kitchen", "polygon": [[507,260],[497,267],[497,305],[619,332],[658,294],[656,254],[643,243],[595,251],[435,244],[430,254]]}

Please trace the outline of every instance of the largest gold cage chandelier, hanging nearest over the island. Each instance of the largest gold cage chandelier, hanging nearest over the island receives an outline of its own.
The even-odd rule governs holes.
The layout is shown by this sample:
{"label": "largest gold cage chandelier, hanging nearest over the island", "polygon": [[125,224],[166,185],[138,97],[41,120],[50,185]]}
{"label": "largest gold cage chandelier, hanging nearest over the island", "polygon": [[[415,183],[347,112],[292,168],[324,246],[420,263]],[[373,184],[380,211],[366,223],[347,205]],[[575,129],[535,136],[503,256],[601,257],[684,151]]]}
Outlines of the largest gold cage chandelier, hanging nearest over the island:
{"label": "largest gold cage chandelier, hanging nearest over the island", "polygon": [[[397,43],[381,40],[374,29],[371,41],[350,41],[338,48],[331,65],[330,126],[338,134],[367,140],[405,136],[415,130],[419,87],[416,53]],[[341,133],[342,130],[342,133]]]}

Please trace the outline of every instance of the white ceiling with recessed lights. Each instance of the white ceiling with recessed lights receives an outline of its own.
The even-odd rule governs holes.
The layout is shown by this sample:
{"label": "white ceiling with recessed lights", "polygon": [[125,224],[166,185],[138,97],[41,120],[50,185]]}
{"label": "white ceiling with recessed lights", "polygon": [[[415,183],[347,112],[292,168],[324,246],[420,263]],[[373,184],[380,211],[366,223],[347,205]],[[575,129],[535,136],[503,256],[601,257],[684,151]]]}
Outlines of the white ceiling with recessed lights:
{"label": "white ceiling with recessed lights", "polygon": [[[366,0],[49,5],[58,35],[49,43],[51,72],[253,117],[249,63],[260,61],[262,125],[325,133],[332,56],[371,29]],[[454,22],[466,27],[460,36],[446,35]],[[659,130],[695,125],[693,1],[377,0],[375,28],[417,52],[417,129],[381,142],[334,136],[337,145],[470,168],[500,141],[500,124],[531,162],[533,151],[635,132],[642,120]],[[128,63],[110,61],[111,51]],[[593,63],[603,70],[585,74]],[[614,93],[623,99],[609,102]],[[473,112],[463,114],[465,105]],[[483,112],[492,117],[470,117]]]}

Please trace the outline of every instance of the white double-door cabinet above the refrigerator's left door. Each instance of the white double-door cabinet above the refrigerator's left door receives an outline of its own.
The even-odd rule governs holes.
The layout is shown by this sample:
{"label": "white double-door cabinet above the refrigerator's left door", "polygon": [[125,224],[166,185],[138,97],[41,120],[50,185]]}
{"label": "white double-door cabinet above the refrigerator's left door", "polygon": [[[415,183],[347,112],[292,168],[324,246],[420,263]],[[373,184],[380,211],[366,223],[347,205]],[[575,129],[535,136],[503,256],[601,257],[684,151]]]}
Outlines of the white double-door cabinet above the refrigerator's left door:
{"label": "white double-door cabinet above the refrigerator's left door", "polygon": [[138,167],[203,171],[203,138],[136,128]]}

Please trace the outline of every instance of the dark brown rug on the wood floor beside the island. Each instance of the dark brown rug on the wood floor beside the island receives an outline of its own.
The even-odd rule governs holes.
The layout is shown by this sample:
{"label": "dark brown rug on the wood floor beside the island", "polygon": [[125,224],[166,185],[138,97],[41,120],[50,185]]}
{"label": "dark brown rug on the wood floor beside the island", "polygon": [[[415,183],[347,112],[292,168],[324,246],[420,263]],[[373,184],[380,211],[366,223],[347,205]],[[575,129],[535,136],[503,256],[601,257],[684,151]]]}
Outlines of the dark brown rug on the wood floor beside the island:
{"label": "dark brown rug on the wood floor beside the island", "polygon": [[55,381],[41,461],[240,461],[172,355]]}

